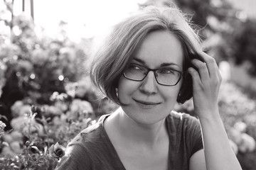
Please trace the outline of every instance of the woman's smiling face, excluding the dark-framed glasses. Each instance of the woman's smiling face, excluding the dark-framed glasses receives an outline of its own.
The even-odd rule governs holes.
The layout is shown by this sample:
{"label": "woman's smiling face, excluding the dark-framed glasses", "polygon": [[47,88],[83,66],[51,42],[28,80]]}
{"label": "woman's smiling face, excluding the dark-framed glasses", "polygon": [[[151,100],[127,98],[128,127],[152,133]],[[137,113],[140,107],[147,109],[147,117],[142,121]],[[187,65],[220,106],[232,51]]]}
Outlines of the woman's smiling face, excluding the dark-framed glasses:
{"label": "woman's smiling face, excluding the dark-framed glasses", "polygon": [[[181,42],[169,31],[156,31],[146,35],[134,54],[131,64],[149,69],[168,67],[182,71],[183,50]],[[119,79],[118,96],[122,109],[137,123],[152,124],[163,120],[174,108],[181,81],[176,86],[158,84],[154,72],[142,81]]]}

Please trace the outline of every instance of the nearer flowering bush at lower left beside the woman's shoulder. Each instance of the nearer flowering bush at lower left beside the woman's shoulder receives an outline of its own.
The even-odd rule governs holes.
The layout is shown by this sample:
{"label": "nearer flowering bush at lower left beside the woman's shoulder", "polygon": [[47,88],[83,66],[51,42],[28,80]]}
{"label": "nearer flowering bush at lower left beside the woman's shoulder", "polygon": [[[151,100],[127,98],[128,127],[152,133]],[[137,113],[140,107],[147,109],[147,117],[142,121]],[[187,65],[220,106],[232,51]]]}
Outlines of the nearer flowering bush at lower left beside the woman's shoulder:
{"label": "nearer flowering bush at lower left beside the woman's shoulder", "polygon": [[[68,94],[56,93],[50,97],[54,103],[51,106],[29,106],[26,100],[16,101],[11,108],[14,118],[9,134],[3,135],[5,125],[0,122],[1,169],[54,169],[68,142],[96,123],[98,116],[88,101],[70,100]],[[106,104],[106,111],[115,109],[111,103]]]}

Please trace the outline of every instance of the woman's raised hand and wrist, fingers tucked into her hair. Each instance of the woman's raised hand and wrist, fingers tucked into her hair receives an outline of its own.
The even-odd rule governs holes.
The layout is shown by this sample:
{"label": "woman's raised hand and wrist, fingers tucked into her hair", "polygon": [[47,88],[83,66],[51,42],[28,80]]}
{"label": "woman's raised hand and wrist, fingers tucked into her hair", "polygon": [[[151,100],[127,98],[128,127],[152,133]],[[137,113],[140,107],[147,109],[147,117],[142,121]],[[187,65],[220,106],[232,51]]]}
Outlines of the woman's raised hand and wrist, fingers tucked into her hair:
{"label": "woman's raised hand and wrist, fingers tucked into her hair", "polygon": [[218,113],[221,76],[213,57],[205,52],[200,52],[198,55],[203,62],[197,59],[191,61],[198,71],[193,67],[188,68],[193,80],[193,104],[198,118],[209,118],[208,116]]}

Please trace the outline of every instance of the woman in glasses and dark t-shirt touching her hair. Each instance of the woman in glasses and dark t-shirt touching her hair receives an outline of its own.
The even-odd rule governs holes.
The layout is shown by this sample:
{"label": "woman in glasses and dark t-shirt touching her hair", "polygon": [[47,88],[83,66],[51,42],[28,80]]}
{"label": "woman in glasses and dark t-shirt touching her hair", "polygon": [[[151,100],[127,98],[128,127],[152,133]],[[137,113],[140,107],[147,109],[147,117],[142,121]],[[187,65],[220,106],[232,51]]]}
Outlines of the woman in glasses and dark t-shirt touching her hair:
{"label": "woman in glasses and dark t-shirt touching her hair", "polygon": [[[144,8],[93,57],[92,81],[120,108],[82,130],[57,169],[241,169],[218,113],[217,64],[181,11]],[[172,111],[192,96],[198,119]]]}

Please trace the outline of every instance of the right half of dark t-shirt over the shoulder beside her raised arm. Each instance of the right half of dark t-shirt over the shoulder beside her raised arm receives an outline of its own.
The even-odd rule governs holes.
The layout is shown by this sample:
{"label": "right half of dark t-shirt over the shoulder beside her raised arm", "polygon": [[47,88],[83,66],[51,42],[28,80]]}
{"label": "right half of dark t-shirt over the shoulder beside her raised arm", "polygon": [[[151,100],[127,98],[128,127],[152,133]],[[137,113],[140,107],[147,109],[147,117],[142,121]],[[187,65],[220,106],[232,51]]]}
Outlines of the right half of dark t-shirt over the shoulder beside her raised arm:
{"label": "right half of dark t-shirt over the shoulder beside her raised arm", "polygon": [[[171,157],[183,166],[183,164],[188,163],[188,158],[191,155],[203,149],[201,125],[198,118],[193,115],[178,113],[176,111],[169,114],[166,122],[169,136],[173,139],[171,141],[171,148],[174,150],[171,153]],[[178,153],[179,156],[177,157],[177,154],[173,153]]]}

